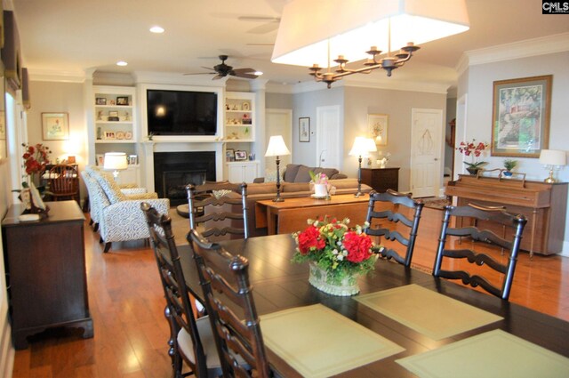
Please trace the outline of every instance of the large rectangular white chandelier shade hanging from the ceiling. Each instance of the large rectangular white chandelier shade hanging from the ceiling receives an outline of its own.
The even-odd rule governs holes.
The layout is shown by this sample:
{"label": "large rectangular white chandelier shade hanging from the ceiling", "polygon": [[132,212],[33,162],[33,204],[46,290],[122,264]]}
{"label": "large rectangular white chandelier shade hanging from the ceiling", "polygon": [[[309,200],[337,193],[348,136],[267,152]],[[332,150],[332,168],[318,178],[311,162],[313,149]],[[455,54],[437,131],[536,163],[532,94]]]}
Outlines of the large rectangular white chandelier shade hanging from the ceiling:
{"label": "large rectangular white chandelier shade hanging from the ceiling", "polygon": [[370,58],[371,46],[397,52],[408,42],[424,44],[469,29],[465,0],[292,0],[284,5],[271,60],[328,67],[338,55]]}

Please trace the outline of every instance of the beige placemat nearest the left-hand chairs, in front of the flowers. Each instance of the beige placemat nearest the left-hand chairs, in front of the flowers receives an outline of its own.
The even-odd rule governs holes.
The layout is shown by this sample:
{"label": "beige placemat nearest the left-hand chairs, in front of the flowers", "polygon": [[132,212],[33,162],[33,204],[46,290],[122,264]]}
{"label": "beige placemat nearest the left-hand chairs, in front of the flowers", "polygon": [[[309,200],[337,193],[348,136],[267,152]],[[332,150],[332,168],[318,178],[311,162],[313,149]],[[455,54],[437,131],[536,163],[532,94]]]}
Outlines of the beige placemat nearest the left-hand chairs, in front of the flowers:
{"label": "beige placemat nearest the left-hand chairs, in front of the flowers", "polygon": [[305,377],[327,377],[403,350],[321,304],[260,317],[265,344]]}

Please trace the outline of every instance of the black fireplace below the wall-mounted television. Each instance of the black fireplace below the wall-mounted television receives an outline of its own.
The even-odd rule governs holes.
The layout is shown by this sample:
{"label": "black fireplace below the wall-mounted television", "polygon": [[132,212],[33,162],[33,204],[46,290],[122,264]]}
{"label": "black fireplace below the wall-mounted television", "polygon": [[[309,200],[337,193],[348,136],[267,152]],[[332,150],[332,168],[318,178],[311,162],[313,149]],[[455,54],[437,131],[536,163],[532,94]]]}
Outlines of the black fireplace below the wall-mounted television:
{"label": "black fireplace below the wall-mounted television", "polygon": [[155,152],[154,188],[170,205],[188,202],[186,185],[215,181],[215,151]]}

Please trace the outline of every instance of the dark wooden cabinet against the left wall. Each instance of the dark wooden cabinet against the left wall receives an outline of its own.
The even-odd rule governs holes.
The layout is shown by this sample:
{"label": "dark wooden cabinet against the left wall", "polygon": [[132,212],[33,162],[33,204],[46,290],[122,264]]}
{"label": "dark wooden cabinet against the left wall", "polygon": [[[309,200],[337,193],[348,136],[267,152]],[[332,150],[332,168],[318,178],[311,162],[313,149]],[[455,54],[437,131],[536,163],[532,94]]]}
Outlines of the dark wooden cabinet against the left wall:
{"label": "dark wooden cabinet against the left wall", "polygon": [[49,217],[19,221],[21,204],[2,221],[6,286],[17,350],[26,338],[55,326],[84,328],[93,335],[87,297],[84,215],[76,201],[46,202]]}

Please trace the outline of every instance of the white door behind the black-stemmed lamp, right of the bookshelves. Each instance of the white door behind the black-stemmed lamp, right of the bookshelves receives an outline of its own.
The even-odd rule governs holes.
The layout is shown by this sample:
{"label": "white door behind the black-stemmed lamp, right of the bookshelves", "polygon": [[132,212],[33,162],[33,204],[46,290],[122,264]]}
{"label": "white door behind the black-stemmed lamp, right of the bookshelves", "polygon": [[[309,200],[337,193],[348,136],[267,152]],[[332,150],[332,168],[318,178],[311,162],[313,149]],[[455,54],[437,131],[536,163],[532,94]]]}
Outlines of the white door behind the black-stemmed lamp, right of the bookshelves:
{"label": "white door behind the black-stemmed lamp, right of the bookshelves", "polygon": [[[291,109],[266,109],[265,110],[265,148],[263,149],[263,156],[267,150],[268,140],[271,135],[283,135],[286,147],[291,151],[291,155],[280,157],[281,174],[284,172],[284,167],[293,161],[293,110]],[[275,157],[264,157],[263,172],[260,176],[265,176],[265,170],[276,170]]]}

